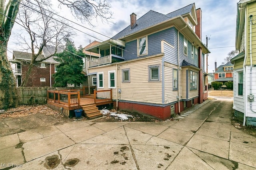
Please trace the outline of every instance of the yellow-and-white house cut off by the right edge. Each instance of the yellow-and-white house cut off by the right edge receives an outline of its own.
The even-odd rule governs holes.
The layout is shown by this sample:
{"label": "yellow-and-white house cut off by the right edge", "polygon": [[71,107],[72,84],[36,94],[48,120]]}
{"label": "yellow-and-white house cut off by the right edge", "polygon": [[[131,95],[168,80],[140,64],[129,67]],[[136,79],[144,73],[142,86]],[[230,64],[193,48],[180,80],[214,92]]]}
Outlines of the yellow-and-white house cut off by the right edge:
{"label": "yellow-and-white house cut off by the right edge", "polygon": [[243,125],[256,125],[256,0],[237,3],[234,64],[234,113]]}

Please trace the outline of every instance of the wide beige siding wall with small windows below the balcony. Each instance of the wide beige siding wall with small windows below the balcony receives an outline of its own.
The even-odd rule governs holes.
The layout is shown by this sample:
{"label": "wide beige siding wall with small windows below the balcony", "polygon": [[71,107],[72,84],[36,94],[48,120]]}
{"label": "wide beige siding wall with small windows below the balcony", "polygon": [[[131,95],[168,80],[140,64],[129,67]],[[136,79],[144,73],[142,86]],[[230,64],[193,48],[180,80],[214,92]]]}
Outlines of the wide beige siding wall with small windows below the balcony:
{"label": "wide beige siding wall with small windows below the balcony", "polygon": [[[162,56],[117,64],[118,80],[116,86],[121,89],[121,93],[118,93],[118,100],[162,104]],[[160,81],[149,82],[148,66],[155,65],[159,66]],[[122,69],[130,69],[130,82],[122,82]],[[89,72],[104,72],[104,89],[98,90],[108,89],[109,70],[116,70],[116,65],[89,68]],[[116,100],[116,89],[113,89],[112,96]]]}

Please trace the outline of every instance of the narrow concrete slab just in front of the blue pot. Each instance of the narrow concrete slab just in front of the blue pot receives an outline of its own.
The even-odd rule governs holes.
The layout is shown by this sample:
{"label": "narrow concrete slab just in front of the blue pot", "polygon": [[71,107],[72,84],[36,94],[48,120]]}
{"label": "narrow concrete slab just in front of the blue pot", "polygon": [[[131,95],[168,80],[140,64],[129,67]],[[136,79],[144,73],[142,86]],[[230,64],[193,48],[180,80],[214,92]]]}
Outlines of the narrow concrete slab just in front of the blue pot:
{"label": "narrow concrete slab just in front of the blue pot", "polygon": [[65,123],[63,125],[56,125],[56,127],[62,131],[62,132],[67,132],[67,131],[72,131],[74,129],[78,129],[81,127],[86,127],[89,126],[89,123],[83,122],[83,121],[72,121]]}

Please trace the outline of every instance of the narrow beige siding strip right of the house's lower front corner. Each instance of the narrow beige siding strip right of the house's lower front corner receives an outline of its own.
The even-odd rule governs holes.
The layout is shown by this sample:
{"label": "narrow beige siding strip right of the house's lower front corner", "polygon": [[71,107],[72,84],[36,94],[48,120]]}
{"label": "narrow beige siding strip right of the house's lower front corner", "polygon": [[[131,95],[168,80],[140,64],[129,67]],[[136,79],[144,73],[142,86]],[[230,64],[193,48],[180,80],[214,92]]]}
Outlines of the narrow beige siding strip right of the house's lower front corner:
{"label": "narrow beige siding strip right of the house's lower front corner", "polygon": [[164,103],[168,104],[177,101],[178,90],[173,90],[173,68],[178,69],[178,66],[167,62],[164,65]]}

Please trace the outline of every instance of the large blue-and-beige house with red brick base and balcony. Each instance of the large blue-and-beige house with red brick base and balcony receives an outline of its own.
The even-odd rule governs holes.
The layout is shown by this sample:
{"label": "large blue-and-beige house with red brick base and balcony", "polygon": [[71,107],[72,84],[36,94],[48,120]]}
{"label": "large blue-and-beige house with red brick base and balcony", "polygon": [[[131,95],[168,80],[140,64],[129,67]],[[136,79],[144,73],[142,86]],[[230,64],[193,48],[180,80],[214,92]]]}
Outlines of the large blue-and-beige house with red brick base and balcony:
{"label": "large blue-and-beige house with red brick base and balcony", "polygon": [[[160,14],[150,10],[111,39],[85,49],[97,90],[112,88],[114,107],[168,119],[207,99],[201,9],[190,4]],[[100,97],[100,96],[98,96]]]}

